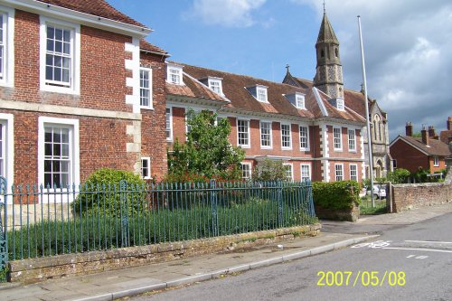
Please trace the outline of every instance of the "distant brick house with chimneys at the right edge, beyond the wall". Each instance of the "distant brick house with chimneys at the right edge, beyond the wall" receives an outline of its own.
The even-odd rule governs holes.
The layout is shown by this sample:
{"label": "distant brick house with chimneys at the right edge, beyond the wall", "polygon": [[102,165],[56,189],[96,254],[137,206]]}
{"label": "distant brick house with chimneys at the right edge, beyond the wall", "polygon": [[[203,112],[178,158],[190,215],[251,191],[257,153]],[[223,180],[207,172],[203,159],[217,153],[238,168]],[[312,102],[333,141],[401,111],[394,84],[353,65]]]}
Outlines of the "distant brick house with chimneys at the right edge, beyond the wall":
{"label": "distant brick house with chimneys at the right edge, beyond the wall", "polygon": [[415,173],[422,167],[431,173],[446,168],[446,157],[450,155],[447,144],[440,141],[434,127],[423,128],[421,137],[413,136],[413,126],[406,126],[406,136],[398,136],[390,145],[395,168],[405,168]]}

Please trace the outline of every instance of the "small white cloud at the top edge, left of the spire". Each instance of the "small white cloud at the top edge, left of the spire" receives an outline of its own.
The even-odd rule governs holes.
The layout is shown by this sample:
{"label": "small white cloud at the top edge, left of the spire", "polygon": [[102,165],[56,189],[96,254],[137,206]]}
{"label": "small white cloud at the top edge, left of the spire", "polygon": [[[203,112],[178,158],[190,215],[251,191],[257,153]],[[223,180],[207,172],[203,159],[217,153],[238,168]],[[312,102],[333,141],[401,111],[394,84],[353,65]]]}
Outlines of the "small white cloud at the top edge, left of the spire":
{"label": "small white cloud at the top edge, left of the spire", "polygon": [[200,18],[205,24],[225,27],[249,27],[255,24],[252,11],[266,0],[194,0],[192,9],[186,14]]}

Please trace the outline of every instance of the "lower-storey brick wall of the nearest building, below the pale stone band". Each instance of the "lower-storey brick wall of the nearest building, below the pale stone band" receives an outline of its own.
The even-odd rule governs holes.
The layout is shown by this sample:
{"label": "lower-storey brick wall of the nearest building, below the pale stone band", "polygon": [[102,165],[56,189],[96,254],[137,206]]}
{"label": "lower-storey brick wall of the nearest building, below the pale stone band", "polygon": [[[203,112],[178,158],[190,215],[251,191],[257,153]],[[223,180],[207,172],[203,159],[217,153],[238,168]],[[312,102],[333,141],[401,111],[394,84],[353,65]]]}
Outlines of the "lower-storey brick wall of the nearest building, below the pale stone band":
{"label": "lower-storey brick wall of the nearest building, below the pale stone band", "polygon": [[127,153],[133,136],[126,134],[133,121],[76,117],[61,114],[8,111],[14,114],[14,183],[38,183],[38,118],[79,120],[80,182],[101,167],[133,171],[137,155]]}

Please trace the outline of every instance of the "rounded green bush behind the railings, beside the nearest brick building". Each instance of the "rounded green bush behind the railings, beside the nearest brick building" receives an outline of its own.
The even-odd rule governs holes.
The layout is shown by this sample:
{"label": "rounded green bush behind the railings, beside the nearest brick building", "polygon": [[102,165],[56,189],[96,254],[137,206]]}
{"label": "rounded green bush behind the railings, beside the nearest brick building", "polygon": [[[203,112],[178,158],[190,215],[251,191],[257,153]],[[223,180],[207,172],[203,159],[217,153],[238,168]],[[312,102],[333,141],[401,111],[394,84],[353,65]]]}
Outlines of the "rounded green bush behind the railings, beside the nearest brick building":
{"label": "rounded green bush behind the railings, beside the nearest brick building", "polygon": [[[121,181],[127,186],[121,187]],[[137,174],[101,168],[80,186],[71,206],[75,215],[131,215],[146,206],[145,182]]]}

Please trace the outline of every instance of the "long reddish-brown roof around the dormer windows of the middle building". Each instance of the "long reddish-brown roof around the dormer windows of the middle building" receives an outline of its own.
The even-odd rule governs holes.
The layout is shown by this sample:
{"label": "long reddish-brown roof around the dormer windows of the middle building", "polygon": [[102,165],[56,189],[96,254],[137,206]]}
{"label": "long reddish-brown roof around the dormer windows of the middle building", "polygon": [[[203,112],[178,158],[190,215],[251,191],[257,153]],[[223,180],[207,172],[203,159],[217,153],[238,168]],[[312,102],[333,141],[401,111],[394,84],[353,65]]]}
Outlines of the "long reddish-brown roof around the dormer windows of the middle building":
{"label": "long reddish-brown roof around the dormer windows of the middle building", "polygon": [[[215,71],[185,64],[183,65],[185,73],[184,84],[186,87],[167,83],[166,90],[169,94],[218,100],[218,97],[220,97],[218,94],[214,93],[211,89],[208,89],[198,81],[208,77],[215,77],[222,79],[221,86],[224,98],[231,101],[226,108],[235,108],[237,110],[251,112],[283,114],[286,116],[301,118],[322,118],[324,116],[320,106],[323,105],[328,113],[328,117],[364,122],[364,119],[361,118],[359,114],[353,112],[353,110],[349,108],[345,108],[345,111],[337,110],[329,103],[328,97],[321,91],[318,91],[318,95],[320,96],[319,103],[315,98],[316,89],[313,88],[304,89],[284,83],[261,80],[246,75]],[[193,84],[195,83],[197,83],[197,85],[193,87]],[[199,89],[200,84],[204,87],[204,89]],[[268,103],[261,102],[254,98],[249,89],[246,89],[255,87],[256,85],[268,87]],[[305,94],[306,109],[296,108],[285,97],[285,95],[295,94],[296,92]]]}

